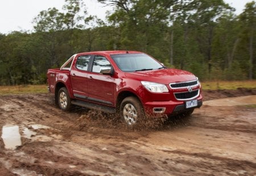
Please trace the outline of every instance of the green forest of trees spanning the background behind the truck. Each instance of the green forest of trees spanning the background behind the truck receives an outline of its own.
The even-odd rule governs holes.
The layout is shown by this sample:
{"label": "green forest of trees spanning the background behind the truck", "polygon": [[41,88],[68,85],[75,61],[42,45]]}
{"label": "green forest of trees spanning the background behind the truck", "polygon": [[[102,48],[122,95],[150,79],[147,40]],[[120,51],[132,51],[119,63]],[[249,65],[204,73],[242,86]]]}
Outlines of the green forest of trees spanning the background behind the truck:
{"label": "green forest of trees spanning the background behind the truck", "polygon": [[241,14],[223,0],[98,0],[107,22],[82,0],[33,20],[34,32],[0,33],[0,85],[44,84],[48,68],[96,50],[138,50],[200,80],[256,79],[256,3]]}

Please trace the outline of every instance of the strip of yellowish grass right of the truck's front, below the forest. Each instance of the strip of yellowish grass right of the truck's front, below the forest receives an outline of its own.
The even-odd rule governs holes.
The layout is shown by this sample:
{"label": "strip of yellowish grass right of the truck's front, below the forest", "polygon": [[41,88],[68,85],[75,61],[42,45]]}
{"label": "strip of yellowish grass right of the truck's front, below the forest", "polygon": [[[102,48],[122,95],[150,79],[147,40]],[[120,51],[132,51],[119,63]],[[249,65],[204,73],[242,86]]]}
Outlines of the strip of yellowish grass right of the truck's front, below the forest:
{"label": "strip of yellowish grass right of the truck's front, below the forest", "polygon": [[256,80],[246,81],[205,81],[201,82],[204,90],[228,89],[235,90],[237,88],[256,89]]}

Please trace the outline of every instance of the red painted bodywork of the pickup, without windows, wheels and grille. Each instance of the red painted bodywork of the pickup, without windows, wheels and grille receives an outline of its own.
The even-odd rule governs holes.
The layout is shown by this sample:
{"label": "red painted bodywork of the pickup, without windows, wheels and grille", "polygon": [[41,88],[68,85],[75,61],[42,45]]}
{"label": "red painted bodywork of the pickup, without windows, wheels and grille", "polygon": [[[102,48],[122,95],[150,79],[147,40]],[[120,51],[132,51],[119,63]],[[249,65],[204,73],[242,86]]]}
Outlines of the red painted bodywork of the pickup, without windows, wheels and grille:
{"label": "red painted bodywork of the pickup, without windows, wheels and grille", "polygon": [[[125,53],[126,51],[93,51],[77,54],[71,66],[71,71],[60,70],[58,68],[48,70],[47,78],[50,91],[55,93],[56,84],[61,83],[67,87],[69,96],[72,99],[75,99],[74,94],[79,94],[81,96],[111,102],[112,105],[105,105],[113,106],[114,108],[117,106],[117,97],[119,93],[122,93],[123,91],[129,91],[136,95],[139,100],[141,100],[143,108],[147,113],[152,113],[152,108],[164,107],[166,108],[165,114],[167,115],[172,113],[176,105],[184,104],[184,101],[176,100],[174,92],[186,92],[188,89],[172,89],[169,84],[196,80],[195,75],[191,74],[191,72],[177,70],[174,68],[139,72],[123,72],[117,67],[110,55]],[[129,53],[141,52],[129,51]],[[76,61],[80,55],[102,55],[106,57],[114,68],[114,75],[102,75],[95,72],[81,71],[77,69]],[[143,87],[141,81],[151,81],[165,84],[169,92],[149,92],[146,88]],[[200,85],[193,87],[193,90],[198,88],[200,88]],[[81,98],[78,99],[83,100]],[[196,99],[203,99],[201,96],[201,89],[200,96]],[[104,105],[100,102],[95,103]]]}

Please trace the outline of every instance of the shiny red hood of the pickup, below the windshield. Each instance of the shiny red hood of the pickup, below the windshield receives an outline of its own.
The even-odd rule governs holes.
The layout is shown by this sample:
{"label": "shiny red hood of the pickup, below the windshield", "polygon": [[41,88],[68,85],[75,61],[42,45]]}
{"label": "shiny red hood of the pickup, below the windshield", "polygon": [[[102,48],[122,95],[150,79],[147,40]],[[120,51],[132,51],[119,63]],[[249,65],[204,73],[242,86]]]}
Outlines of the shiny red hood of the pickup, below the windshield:
{"label": "shiny red hood of the pickup, below the windshield", "polygon": [[184,70],[177,70],[174,68],[166,68],[161,70],[150,70],[150,71],[137,71],[137,72],[126,72],[127,78],[140,80],[140,81],[151,81],[160,84],[179,83],[183,81],[195,80],[196,76],[191,72]]}

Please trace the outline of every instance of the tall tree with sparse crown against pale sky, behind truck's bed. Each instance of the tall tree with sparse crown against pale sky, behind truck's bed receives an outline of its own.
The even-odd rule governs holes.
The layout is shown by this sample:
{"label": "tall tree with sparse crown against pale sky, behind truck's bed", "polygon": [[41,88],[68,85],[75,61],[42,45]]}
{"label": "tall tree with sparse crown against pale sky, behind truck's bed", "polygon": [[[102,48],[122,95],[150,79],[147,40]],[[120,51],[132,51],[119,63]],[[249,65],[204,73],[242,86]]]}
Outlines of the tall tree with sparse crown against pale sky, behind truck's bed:
{"label": "tall tree with sparse crown against pale sky, behind truck's bed", "polygon": [[[41,11],[33,23],[38,35],[42,36],[42,48],[49,58],[49,67],[60,67],[65,55],[72,55],[76,51],[76,29],[83,28],[86,9],[82,0],[66,0],[64,12],[56,8]],[[64,57],[65,56],[65,57]]]}

